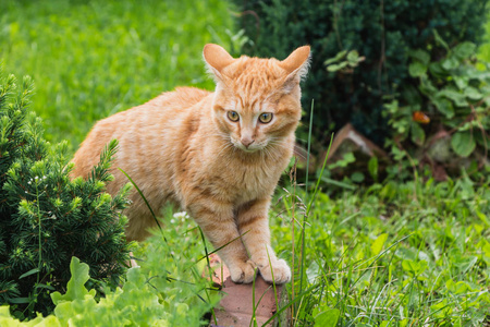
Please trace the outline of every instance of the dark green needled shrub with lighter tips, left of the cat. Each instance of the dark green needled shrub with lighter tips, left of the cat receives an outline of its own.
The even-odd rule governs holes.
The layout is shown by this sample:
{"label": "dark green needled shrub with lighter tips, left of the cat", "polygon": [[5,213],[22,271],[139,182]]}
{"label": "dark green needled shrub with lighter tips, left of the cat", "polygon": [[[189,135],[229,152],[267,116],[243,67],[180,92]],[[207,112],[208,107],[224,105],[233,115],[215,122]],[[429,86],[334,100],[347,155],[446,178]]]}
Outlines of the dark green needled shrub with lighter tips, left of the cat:
{"label": "dark green needled shrub with lighter tips, left of the cat", "polygon": [[87,181],[71,181],[66,143],[51,146],[26,111],[32,90],[29,78],[16,92],[13,76],[0,76],[0,305],[16,305],[20,316],[52,308],[49,292],[63,291],[72,256],[90,266],[91,284],[113,286],[128,258],[120,215],[128,187],[105,193],[117,142]]}

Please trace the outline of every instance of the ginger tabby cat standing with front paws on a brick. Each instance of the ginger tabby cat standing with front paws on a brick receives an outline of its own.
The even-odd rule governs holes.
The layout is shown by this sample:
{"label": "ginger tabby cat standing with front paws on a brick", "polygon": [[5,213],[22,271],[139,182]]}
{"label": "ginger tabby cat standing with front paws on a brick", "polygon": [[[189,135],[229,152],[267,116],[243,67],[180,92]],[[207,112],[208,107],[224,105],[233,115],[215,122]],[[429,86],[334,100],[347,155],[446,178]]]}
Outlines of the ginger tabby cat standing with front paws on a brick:
{"label": "ginger tabby cat standing with front paws on a brick", "polygon": [[[75,154],[73,177],[87,177],[113,138],[114,194],[127,172],[154,209],[173,202],[186,210],[219,251],[235,282],[252,282],[257,267],[265,280],[291,279],[291,269],[270,246],[270,201],[294,147],[301,119],[299,81],[309,46],[285,60],[232,58],[206,45],[204,59],[215,93],[180,87],[143,106],[99,121]],[[143,240],[155,220],[133,192],[125,211],[128,240]],[[269,265],[270,258],[270,265]]]}

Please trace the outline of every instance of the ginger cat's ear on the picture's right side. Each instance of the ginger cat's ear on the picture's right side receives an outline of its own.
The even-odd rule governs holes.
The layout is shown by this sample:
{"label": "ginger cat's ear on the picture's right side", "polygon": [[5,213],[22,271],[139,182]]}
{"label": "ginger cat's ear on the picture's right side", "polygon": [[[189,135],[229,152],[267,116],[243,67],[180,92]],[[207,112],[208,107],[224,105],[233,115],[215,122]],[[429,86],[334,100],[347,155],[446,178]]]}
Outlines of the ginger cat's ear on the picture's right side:
{"label": "ginger cat's ear on the picture's right side", "polygon": [[306,77],[309,69],[310,47],[303,46],[294,50],[286,59],[279,62],[279,65],[286,71],[284,78],[284,90],[291,89]]}

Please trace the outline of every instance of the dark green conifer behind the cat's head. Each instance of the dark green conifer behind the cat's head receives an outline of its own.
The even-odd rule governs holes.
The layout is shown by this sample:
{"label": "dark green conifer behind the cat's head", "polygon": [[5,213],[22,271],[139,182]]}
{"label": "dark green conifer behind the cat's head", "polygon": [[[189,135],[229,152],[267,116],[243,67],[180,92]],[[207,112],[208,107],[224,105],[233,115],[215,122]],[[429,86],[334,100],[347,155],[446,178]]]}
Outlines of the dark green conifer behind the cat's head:
{"label": "dark green conifer behind the cat's head", "polygon": [[[478,41],[487,0],[235,0],[244,11],[241,26],[254,41],[249,55],[285,58],[294,48],[313,47],[310,74],[303,87],[304,108],[315,99],[315,131],[323,141],[332,129],[352,122],[382,145],[389,136],[383,96],[414,83],[411,49],[438,46],[433,31],[450,45]],[[259,28],[255,15],[258,15]],[[352,72],[328,72],[324,61],[342,50],[366,60]],[[443,49],[441,49],[443,50]],[[444,51],[441,51],[443,55]],[[440,56],[439,56],[440,58]],[[306,121],[306,120],[305,120]],[[327,137],[328,138],[328,137]]]}

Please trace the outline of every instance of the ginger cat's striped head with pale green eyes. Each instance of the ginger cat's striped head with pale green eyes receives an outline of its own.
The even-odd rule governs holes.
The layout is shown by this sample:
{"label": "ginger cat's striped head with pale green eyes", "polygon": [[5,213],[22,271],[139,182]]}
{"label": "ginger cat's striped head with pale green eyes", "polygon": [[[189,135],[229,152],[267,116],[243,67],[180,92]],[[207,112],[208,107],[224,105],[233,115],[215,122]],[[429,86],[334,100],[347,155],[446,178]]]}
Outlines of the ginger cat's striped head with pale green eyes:
{"label": "ginger cat's striped head with pale green eyes", "polygon": [[212,104],[220,134],[246,153],[281,144],[301,119],[299,82],[309,64],[309,46],[286,59],[231,57],[218,45],[206,45],[204,58],[217,83]]}

